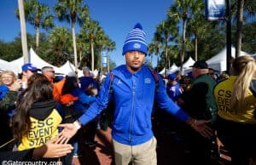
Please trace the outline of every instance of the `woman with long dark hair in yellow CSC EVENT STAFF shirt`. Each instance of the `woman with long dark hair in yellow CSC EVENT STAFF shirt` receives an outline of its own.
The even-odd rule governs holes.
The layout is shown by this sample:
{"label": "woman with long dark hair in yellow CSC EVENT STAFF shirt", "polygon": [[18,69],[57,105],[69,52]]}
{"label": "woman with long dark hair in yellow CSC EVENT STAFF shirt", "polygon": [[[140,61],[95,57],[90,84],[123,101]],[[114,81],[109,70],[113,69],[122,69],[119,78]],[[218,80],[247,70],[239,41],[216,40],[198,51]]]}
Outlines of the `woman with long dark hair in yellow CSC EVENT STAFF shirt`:
{"label": "woman with long dark hair in yellow CSC EVENT STAFF shirt", "polygon": [[42,74],[33,74],[11,118],[14,137],[20,141],[18,151],[42,146],[57,136],[61,116],[55,105],[48,79]]}

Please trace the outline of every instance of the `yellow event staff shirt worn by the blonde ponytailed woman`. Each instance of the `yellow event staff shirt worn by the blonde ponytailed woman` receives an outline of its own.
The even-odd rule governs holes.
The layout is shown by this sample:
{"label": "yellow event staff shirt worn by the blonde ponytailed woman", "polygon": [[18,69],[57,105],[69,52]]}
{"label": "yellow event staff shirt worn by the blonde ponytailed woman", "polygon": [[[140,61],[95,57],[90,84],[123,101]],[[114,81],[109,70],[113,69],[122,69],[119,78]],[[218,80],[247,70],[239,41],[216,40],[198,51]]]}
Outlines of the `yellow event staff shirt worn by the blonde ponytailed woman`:
{"label": "yellow event staff shirt worn by the blonde ponytailed woman", "polygon": [[218,105],[218,116],[233,122],[256,123],[256,119],[253,117],[253,112],[256,108],[256,98],[251,90],[248,89],[247,105],[244,106],[243,110],[230,110],[230,98],[235,81],[236,77],[230,76],[227,80],[218,83],[214,89],[214,96]]}

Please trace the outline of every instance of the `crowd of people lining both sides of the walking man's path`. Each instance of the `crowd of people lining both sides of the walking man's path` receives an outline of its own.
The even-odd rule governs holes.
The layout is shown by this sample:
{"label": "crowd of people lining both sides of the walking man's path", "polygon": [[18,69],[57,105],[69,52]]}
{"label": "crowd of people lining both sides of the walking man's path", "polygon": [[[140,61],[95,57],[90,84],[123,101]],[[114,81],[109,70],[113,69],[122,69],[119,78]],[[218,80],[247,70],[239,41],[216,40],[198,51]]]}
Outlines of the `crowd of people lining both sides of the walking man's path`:
{"label": "crowd of people lining both sides of the walking man's path", "polygon": [[[153,113],[153,127],[158,125],[154,132],[159,125],[170,126],[169,129],[183,139],[190,164],[205,165],[212,162],[213,153],[217,152],[219,158],[222,151],[229,151],[224,157],[227,163],[255,163],[256,64],[253,58],[241,56],[232,66],[229,75],[214,71],[205,61],[199,60],[187,75],[177,71],[162,77],[170,99],[190,117],[210,120],[209,127],[214,130],[212,137],[203,137],[188,125],[174,118],[169,120],[170,116],[163,115],[164,112]],[[67,145],[62,145],[65,142],[60,141],[58,135],[61,132],[58,125],[80,117],[96,100],[104,81],[98,75],[91,75],[88,67],[84,67],[83,72],[84,77],[77,77],[75,72],[55,77],[54,68],[45,66],[39,70],[30,63],[22,65],[20,75],[1,71],[0,157],[8,160],[10,151],[14,151],[20,160],[42,159],[71,164],[73,156],[81,156],[81,139],[85,145],[96,146],[99,123],[111,123],[113,114],[104,119],[101,115],[96,117],[79,129]],[[213,151],[212,144],[217,151]]]}

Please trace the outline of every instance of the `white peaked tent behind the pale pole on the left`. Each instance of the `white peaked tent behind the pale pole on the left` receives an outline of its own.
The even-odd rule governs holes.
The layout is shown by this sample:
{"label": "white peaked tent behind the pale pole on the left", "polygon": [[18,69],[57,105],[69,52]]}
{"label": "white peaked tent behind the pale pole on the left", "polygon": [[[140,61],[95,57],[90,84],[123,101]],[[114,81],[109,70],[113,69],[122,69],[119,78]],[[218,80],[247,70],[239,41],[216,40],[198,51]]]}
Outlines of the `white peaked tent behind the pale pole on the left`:
{"label": "white peaked tent behind the pale pole on the left", "polygon": [[[48,62],[41,59],[38,54],[34,52],[32,48],[29,50],[29,61],[32,63],[32,65],[35,65],[38,69],[41,69],[44,66],[51,66],[55,69],[56,72],[60,71],[58,67],[55,65],[50,65]],[[9,62],[11,65],[14,65],[17,67],[17,70],[21,72],[21,66],[24,65],[24,57],[20,57],[19,59],[12,60]]]}

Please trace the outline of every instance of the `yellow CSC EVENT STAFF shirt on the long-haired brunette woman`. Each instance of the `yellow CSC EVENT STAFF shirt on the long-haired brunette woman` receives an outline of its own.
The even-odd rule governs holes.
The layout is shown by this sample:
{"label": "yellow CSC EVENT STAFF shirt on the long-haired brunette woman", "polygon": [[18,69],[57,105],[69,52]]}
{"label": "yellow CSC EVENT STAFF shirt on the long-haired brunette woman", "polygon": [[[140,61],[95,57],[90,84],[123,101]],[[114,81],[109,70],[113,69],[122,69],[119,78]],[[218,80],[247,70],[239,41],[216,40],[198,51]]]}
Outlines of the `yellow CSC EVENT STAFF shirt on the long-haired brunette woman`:
{"label": "yellow CSC EVENT STAFF shirt on the long-haired brunette woman", "polygon": [[61,116],[57,110],[53,110],[44,121],[30,117],[31,128],[23,136],[18,151],[23,151],[44,145],[49,139],[55,138],[58,134],[58,125],[61,123]]}

